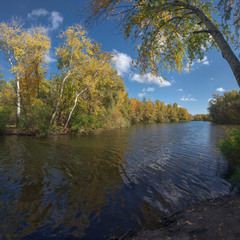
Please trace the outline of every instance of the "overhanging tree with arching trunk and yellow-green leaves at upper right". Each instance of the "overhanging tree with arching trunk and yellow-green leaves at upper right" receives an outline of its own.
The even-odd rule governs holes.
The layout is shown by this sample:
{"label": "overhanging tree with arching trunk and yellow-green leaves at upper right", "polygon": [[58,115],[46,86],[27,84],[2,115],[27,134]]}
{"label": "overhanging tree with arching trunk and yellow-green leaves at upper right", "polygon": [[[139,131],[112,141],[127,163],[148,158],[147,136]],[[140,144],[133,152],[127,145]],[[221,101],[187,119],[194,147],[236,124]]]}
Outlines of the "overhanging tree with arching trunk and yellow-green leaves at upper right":
{"label": "overhanging tree with arching trunk and yellow-green leaves at upper right", "polygon": [[[236,3],[239,23],[239,3],[225,1],[231,9]],[[229,25],[217,23],[211,1],[200,0],[92,0],[90,21],[99,16],[117,16],[123,23],[126,38],[140,39],[136,46],[137,65],[142,72],[181,71],[185,61],[203,58],[209,47],[220,49],[240,86],[240,62],[227,40]]]}

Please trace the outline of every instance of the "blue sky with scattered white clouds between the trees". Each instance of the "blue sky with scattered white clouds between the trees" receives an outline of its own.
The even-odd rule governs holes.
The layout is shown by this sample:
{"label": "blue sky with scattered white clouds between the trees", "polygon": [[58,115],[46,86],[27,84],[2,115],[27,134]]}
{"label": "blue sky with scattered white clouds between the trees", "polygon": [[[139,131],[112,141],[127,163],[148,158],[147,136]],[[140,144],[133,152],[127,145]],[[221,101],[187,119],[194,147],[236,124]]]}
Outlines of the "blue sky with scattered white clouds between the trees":
{"label": "blue sky with scattered white clouds between the trees", "polygon": [[[57,36],[67,26],[81,23],[79,12],[85,10],[85,3],[85,0],[7,0],[1,3],[0,20],[10,21],[11,17],[21,17],[27,28],[44,27],[52,40],[48,60],[53,72]],[[208,100],[213,93],[239,89],[227,62],[215,49],[206,52],[202,61],[196,59],[190,72],[186,69],[182,74],[177,71],[164,73],[166,80],[161,83],[161,77],[152,77],[148,73],[140,76],[138,70],[132,68],[131,58],[137,57],[133,51],[135,44],[132,40],[124,40],[114,21],[100,22],[89,28],[88,34],[101,43],[103,49],[114,54],[115,67],[125,82],[130,98],[159,99],[166,104],[176,102],[191,114],[197,114],[207,113]],[[3,59],[1,67],[8,71]]]}

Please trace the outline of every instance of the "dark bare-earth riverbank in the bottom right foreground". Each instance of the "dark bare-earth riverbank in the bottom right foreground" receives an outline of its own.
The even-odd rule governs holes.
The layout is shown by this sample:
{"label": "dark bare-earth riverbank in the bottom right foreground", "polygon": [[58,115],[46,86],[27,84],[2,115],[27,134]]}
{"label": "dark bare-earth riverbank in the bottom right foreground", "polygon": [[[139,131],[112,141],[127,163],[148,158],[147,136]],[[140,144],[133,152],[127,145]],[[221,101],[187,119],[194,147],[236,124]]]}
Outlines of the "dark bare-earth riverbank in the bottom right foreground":
{"label": "dark bare-earth riverbank in the bottom right foreground", "polygon": [[240,195],[227,195],[190,206],[165,219],[161,228],[141,230],[122,240],[240,239]]}

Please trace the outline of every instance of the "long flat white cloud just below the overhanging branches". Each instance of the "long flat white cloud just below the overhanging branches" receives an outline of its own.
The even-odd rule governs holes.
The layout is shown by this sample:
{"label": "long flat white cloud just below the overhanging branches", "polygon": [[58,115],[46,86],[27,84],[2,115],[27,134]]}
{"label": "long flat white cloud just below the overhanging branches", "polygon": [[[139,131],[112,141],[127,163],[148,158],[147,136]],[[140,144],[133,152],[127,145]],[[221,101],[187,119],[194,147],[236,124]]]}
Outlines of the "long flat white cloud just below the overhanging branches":
{"label": "long flat white cloud just below the overhanging branches", "polygon": [[134,74],[131,78],[132,81],[136,81],[138,83],[153,83],[158,85],[159,87],[169,87],[172,84],[162,77],[153,76],[150,73],[145,73],[142,76],[140,74]]}

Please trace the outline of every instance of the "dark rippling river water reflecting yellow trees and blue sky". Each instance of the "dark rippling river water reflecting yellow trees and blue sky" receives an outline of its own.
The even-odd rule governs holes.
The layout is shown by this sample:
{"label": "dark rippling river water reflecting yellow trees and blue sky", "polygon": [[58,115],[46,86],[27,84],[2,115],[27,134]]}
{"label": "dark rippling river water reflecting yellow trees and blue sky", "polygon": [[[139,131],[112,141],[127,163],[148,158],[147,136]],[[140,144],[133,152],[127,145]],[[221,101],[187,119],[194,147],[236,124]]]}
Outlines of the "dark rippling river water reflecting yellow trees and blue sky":
{"label": "dark rippling river water reflecting yellow trees and blue sky", "polygon": [[0,137],[0,239],[114,239],[230,193],[209,122]]}

